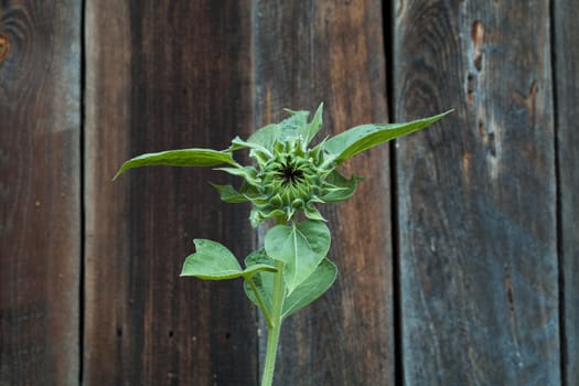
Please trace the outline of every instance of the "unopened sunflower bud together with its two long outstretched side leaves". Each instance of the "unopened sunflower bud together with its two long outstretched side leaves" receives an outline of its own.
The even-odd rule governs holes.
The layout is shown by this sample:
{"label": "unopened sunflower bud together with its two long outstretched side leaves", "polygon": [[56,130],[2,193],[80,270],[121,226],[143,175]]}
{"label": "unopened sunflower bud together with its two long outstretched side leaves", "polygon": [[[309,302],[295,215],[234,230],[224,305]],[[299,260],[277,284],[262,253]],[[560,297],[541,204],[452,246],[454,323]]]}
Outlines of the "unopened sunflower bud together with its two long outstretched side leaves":
{"label": "unopened sunflower bud together with its two long outstretched side leaves", "polygon": [[[450,111],[405,124],[369,124],[343,131],[310,148],[322,127],[320,105],[313,119],[308,111],[289,112],[289,118],[258,129],[246,141],[235,138],[225,150],[182,149],[136,157],[122,164],[126,170],[146,165],[216,167],[229,174],[242,176],[239,187],[215,185],[223,201],[253,204],[249,219],[257,226],[265,219],[290,222],[302,213],[314,221],[323,221],[318,204],[339,202],[354,194],[361,178],[346,179],[335,168],[342,162],[375,146],[397,137],[418,131]],[[255,160],[242,165],[233,153],[248,149]]]}

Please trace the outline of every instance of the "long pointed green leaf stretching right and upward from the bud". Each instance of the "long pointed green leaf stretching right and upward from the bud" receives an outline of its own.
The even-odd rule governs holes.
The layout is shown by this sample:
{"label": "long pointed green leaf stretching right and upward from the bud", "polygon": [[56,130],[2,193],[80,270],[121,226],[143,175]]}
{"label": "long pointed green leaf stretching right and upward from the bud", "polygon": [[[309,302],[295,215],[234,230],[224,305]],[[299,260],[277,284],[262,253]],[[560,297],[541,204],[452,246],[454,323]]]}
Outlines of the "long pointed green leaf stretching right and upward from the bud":
{"label": "long pointed green leaf stretching right and upward from the bud", "polygon": [[451,111],[406,124],[357,126],[330,138],[325,142],[325,150],[335,157],[336,163],[341,163],[375,146],[421,130]]}

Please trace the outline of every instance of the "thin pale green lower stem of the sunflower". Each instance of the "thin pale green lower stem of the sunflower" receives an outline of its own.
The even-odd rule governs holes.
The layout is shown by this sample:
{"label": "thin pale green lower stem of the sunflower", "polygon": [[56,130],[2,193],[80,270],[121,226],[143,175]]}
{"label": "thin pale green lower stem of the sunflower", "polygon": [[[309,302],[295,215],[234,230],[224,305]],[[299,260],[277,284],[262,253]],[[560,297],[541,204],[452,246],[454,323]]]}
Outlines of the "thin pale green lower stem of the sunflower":
{"label": "thin pale green lower stem of the sunflower", "polygon": [[276,278],[274,279],[274,299],[271,310],[271,326],[267,334],[266,363],[264,365],[264,376],[261,386],[271,386],[274,382],[274,371],[276,369],[276,356],[278,354],[279,333],[281,331],[281,312],[283,310],[283,299],[286,297],[286,286],[283,285],[283,261],[276,261]]}

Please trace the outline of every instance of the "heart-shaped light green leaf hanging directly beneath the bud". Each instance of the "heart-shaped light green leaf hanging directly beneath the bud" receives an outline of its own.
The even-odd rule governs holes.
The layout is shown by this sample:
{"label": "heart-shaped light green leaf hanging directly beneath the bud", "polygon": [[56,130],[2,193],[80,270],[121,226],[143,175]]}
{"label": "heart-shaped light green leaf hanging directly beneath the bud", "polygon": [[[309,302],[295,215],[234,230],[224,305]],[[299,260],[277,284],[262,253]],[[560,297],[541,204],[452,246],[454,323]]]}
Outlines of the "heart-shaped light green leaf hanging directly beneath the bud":
{"label": "heart-shaped light green leaf hanging directly beneath the bud", "polygon": [[268,230],[265,249],[269,257],[281,260],[283,279],[291,293],[318,267],[330,249],[330,229],[323,222],[277,225]]}

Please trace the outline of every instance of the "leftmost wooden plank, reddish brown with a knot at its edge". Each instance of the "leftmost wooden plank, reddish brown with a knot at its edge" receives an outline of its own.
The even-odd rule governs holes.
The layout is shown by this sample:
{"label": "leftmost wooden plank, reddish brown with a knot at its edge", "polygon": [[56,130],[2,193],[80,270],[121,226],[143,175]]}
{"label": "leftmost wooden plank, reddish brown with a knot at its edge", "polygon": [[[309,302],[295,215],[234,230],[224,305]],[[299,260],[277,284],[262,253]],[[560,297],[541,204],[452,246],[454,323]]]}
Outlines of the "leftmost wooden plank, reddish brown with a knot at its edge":
{"label": "leftmost wooden plank, reddish brown with a knot at its edge", "polygon": [[78,384],[81,3],[0,4],[0,384]]}

